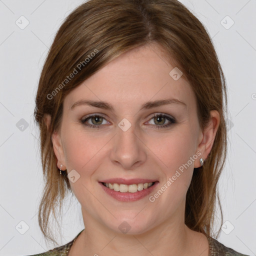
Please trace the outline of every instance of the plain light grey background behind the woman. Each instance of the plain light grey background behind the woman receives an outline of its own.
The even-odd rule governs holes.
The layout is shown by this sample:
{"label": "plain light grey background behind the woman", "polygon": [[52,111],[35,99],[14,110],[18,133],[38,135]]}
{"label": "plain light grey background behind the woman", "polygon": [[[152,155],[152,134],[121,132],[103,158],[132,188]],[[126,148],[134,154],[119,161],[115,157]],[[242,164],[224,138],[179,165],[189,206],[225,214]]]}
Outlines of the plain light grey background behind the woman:
{"label": "plain light grey background behind the woman", "polygon": [[[44,243],[37,223],[43,181],[39,133],[32,113],[47,50],[63,19],[82,2],[0,0],[0,255],[28,255],[52,248]],[[255,255],[256,0],[181,2],[213,38],[228,87],[228,159],[219,181],[226,222],[218,240]],[[26,20],[29,24],[21,29]],[[68,207],[70,199],[60,220],[63,237],[59,244],[73,239],[84,227],[79,203],[73,199]]]}

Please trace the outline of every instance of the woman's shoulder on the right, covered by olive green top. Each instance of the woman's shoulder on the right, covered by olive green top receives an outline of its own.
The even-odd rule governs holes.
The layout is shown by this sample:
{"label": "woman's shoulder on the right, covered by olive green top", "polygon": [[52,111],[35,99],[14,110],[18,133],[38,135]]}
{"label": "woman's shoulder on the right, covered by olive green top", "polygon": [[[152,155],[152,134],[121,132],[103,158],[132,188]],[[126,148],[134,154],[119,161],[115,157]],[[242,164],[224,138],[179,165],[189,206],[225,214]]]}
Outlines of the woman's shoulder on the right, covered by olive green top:
{"label": "woman's shoulder on the right, covered by olive green top", "polygon": [[226,247],[221,242],[216,239],[208,236],[209,242],[209,256],[249,256],[242,253],[239,253],[232,248]]}

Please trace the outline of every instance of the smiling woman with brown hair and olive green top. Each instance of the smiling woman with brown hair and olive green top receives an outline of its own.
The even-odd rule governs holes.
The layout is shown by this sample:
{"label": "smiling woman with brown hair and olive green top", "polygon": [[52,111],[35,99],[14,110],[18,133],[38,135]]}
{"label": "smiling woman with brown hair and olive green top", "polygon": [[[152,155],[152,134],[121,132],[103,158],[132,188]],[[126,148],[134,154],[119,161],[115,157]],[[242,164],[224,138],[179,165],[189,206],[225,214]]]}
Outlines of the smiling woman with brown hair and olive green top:
{"label": "smiling woman with brown hair and olive green top", "polygon": [[242,255],[212,236],[226,86],[209,35],[176,0],[89,0],[59,28],[35,107],[39,225],[67,191],[85,228],[37,255]]}

